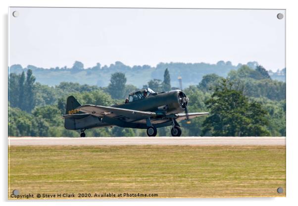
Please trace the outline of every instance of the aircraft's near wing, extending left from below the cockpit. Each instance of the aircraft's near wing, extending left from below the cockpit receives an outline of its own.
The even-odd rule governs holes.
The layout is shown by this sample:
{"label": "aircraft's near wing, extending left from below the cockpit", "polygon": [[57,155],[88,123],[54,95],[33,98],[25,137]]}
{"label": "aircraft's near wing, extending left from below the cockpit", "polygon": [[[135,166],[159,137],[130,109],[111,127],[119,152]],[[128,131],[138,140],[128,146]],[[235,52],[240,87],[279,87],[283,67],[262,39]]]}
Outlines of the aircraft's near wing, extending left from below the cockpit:
{"label": "aircraft's near wing, extending left from below the cockpit", "polygon": [[124,109],[124,108],[117,108],[117,107],[110,107],[110,106],[98,106],[98,105],[92,105],[92,104],[82,105],[82,106],[79,106],[77,109],[79,109],[82,112],[92,114],[94,116],[99,116],[101,118],[106,116],[106,117],[116,118],[118,120],[124,120],[124,121],[145,119],[147,117],[156,116],[155,112],[139,111],[139,110]]}

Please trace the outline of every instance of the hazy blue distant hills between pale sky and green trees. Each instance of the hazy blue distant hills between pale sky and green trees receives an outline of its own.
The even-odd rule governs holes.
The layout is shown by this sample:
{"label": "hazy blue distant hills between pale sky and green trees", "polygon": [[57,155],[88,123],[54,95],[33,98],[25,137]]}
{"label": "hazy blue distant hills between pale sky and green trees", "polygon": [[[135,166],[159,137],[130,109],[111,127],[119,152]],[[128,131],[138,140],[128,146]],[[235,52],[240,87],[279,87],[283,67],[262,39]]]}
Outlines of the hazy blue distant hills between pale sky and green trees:
{"label": "hazy blue distant hills between pale sky and green trees", "polygon": [[[247,65],[255,68],[258,63],[255,61],[248,62]],[[31,69],[36,82],[46,84],[49,86],[58,85],[60,82],[75,82],[79,84],[97,85],[99,87],[106,87],[109,84],[110,76],[114,72],[123,72],[127,78],[127,84],[133,84],[139,88],[146,85],[151,79],[163,79],[163,73],[168,68],[172,87],[178,87],[178,76],[183,79],[183,87],[189,85],[198,85],[202,77],[206,74],[215,73],[219,76],[226,77],[229,71],[238,69],[242,64],[237,66],[232,65],[230,61],[218,61],[216,64],[209,63],[159,63],[156,67],[149,65],[127,66],[120,61],[116,61],[110,66],[101,66],[97,63],[96,66],[84,68],[82,62],[76,61],[73,67],[67,68],[39,68],[34,65],[28,65],[23,68],[20,64],[10,66],[10,73],[21,73]],[[286,70],[278,70],[278,72],[269,71],[272,79],[285,81]]]}

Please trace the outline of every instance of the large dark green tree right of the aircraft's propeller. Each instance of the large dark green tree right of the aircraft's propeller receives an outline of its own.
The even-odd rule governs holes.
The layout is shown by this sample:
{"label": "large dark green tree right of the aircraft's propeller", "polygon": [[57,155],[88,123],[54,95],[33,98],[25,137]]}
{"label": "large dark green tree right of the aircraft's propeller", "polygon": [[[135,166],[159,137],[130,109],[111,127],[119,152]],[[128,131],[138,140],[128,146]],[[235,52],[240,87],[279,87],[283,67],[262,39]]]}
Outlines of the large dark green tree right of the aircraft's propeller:
{"label": "large dark green tree right of the aircraft's propeller", "polygon": [[205,101],[210,109],[203,122],[203,134],[212,136],[268,136],[267,111],[260,103],[249,102],[243,91],[233,89],[233,82],[223,79],[211,98]]}

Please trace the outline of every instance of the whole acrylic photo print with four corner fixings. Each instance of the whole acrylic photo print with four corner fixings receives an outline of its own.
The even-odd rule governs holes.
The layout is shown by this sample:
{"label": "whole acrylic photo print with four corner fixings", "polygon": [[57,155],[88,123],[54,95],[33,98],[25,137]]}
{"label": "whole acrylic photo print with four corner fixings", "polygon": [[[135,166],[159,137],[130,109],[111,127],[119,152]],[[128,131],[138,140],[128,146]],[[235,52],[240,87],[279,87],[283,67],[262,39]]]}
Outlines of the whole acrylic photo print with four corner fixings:
{"label": "whole acrylic photo print with four corner fixings", "polygon": [[286,196],[285,10],[8,16],[9,199]]}

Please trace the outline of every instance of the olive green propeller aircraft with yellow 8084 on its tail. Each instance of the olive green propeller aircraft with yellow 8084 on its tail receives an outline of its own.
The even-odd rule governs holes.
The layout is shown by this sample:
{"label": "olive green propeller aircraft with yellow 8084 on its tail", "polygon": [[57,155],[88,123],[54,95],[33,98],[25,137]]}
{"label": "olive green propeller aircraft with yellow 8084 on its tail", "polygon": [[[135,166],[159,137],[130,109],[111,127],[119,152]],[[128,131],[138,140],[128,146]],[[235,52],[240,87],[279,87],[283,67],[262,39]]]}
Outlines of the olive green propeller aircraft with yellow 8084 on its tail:
{"label": "olive green propeller aircraft with yellow 8084 on its tail", "polygon": [[86,136],[86,129],[112,126],[147,129],[149,137],[156,136],[156,128],[172,126],[171,135],[178,137],[182,133],[178,121],[209,114],[188,113],[188,101],[181,90],[156,93],[150,88],[132,92],[125,103],[111,106],[81,105],[69,96],[66,114],[61,117],[65,129],[80,130],[81,137]]}

